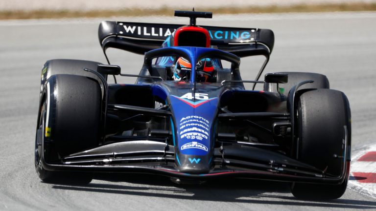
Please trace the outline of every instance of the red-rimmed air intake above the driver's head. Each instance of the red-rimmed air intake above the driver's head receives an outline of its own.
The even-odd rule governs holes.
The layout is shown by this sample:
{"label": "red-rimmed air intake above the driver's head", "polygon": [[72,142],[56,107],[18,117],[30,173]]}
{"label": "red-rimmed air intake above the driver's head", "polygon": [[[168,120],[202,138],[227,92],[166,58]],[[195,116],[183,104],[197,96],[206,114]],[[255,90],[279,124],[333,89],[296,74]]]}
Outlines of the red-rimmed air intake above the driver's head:
{"label": "red-rimmed air intake above the driver's head", "polygon": [[174,46],[210,47],[208,30],[198,26],[183,26],[175,31]]}

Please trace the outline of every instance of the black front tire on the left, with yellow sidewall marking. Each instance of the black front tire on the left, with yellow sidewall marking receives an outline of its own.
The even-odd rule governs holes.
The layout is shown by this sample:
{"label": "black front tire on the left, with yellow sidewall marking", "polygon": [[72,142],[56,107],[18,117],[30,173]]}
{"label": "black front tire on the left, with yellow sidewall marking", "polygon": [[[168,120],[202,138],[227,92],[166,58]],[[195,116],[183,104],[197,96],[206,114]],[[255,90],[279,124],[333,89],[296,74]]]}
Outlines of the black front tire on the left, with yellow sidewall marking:
{"label": "black front tire on the left, with yellow sidewall marking", "polygon": [[44,169],[42,144],[46,162],[60,162],[64,156],[98,146],[101,128],[99,84],[84,76],[51,76],[44,86],[38,115],[35,169],[39,177],[51,183],[90,183],[90,173]]}

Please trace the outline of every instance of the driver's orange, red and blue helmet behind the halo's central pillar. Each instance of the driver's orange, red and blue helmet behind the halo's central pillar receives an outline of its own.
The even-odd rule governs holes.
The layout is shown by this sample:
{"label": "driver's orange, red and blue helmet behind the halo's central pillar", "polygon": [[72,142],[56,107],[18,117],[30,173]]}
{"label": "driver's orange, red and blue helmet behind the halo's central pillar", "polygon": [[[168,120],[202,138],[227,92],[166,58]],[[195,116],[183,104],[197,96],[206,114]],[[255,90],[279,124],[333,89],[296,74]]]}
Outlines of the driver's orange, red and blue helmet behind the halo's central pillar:
{"label": "driver's orange, red and blue helmet behind the halo's central pillar", "polygon": [[[174,67],[173,79],[175,81],[188,80],[190,77],[191,65],[186,58],[180,57]],[[206,58],[198,61],[196,64],[197,82],[211,81],[213,76],[213,63],[211,59]]]}

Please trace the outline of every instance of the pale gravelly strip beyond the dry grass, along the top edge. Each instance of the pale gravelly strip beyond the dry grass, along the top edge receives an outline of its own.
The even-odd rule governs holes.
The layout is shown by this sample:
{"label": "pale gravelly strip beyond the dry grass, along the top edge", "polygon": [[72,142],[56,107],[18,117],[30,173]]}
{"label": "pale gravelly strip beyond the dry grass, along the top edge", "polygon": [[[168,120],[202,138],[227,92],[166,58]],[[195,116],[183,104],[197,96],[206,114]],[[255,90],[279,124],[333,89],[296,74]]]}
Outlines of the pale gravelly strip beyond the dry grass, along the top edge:
{"label": "pale gravelly strip beyond the dry grass, along the top edge", "polygon": [[247,6],[290,6],[296,4],[338,4],[338,3],[372,3],[375,0],[111,0],[103,3],[103,0],[1,0],[0,11],[30,11],[30,10],[103,10],[103,9],[125,9],[125,8],[192,8],[196,11],[208,7],[247,7]]}

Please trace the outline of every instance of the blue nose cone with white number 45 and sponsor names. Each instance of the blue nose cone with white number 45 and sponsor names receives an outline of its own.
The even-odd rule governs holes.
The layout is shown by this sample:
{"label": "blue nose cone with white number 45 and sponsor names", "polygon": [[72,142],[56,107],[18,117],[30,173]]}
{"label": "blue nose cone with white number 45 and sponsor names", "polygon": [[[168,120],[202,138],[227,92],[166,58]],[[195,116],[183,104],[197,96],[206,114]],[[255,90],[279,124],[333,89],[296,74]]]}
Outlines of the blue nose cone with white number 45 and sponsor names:
{"label": "blue nose cone with white number 45 and sponsor names", "polygon": [[[194,86],[191,88],[194,89]],[[196,84],[196,91],[184,89],[184,92],[178,95],[169,96],[173,114],[175,163],[181,172],[203,174],[211,169],[215,117],[219,102],[219,91],[213,90],[218,89],[217,86]]]}

